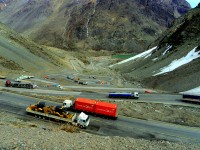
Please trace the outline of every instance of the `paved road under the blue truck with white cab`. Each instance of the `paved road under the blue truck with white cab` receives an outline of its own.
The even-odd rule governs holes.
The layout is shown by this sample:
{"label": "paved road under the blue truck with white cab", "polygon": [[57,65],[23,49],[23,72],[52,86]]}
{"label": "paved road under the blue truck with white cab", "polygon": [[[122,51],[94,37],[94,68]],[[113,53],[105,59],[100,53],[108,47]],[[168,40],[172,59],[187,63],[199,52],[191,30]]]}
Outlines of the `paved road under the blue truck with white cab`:
{"label": "paved road under the blue truck with white cab", "polygon": [[[105,87],[104,87],[105,88]],[[108,92],[97,93],[97,92],[76,92],[76,91],[56,91],[56,90],[45,90],[45,89],[23,89],[23,88],[10,88],[10,87],[1,87],[1,89],[7,89],[16,92],[26,92],[26,93],[38,93],[38,94],[47,94],[47,95],[59,95],[59,96],[74,96],[77,97],[85,97],[91,99],[107,99]],[[121,88],[122,89],[122,88]],[[124,90],[127,88],[124,88]],[[190,104],[182,102],[182,95],[179,94],[140,94],[140,98],[135,99],[114,99],[114,100],[129,100],[129,101],[137,101],[137,102],[150,102],[150,103],[162,103],[162,104],[171,104],[171,105],[181,105],[181,106],[192,106],[192,107],[200,107],[200,105]]]}

